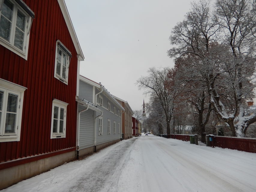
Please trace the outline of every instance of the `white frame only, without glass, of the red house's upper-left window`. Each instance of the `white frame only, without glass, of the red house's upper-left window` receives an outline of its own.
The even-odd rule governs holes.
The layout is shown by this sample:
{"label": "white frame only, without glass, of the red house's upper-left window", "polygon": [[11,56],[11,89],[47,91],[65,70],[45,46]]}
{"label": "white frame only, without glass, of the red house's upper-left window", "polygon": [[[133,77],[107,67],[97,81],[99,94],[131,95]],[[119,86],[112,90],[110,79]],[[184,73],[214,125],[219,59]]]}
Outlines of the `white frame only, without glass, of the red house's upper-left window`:
{"label": "white frame only, without glass, of the red house's upper-left window", "polygon": [[[5,48],[11,50],[12,52],[16,53],[20,57],[28,60],[29,34],[30,34],[30,29],[31,29],[33,17],[30,16],[28,14],[28,12],[26,10],[24,10],[16,1],[14,1],[14,0],[8,0],[8,1],[11,2],[11,4],[14,5],[13,6],[13,12],[12,12],[10,39],[7,40],[7,39],[0,36],[0,44],[2,46],[4,46]],[[3,6],[3,2],[4,2],[4,0],[0,0],[0,19],[1,19],[1,16],[2,16],[1,10],[2,10],[2,6]],[[23,1],[21,2],[21,4],[24,4],[24,6],[26,6],[26,9],[29,10],[30,13],[34,14],[33,11]],[[18,47],[16,47],[14,45],[18,10],[21,14],[23,14],[25,16],[25,26],[24,26],[24,37],[23,37],[22,49],[19,49]]]}

